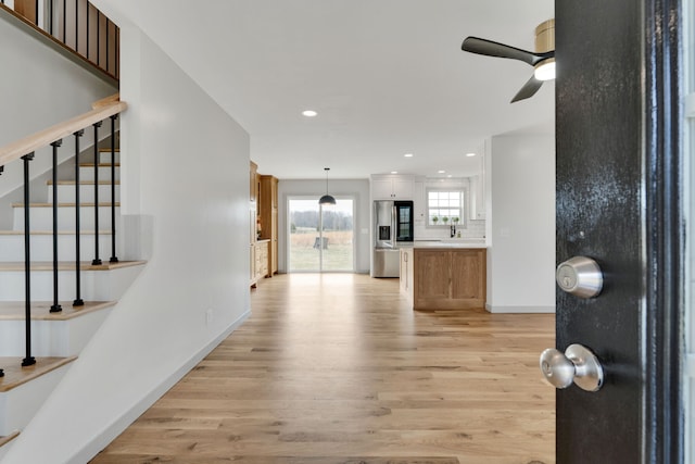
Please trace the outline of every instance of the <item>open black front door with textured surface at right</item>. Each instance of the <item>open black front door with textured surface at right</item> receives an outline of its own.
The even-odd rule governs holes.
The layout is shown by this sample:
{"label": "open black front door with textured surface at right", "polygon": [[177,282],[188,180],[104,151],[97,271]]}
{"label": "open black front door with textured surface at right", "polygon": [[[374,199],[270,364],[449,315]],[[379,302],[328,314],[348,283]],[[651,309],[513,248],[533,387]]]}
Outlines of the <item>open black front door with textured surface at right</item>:
{"label": "open black front door with textured surface at right", "polygon": [[557,290],[557,346],[603,365],[557,390],[557,463],[682,462],[679,2],[556,1],[557,261],[601,293]]}

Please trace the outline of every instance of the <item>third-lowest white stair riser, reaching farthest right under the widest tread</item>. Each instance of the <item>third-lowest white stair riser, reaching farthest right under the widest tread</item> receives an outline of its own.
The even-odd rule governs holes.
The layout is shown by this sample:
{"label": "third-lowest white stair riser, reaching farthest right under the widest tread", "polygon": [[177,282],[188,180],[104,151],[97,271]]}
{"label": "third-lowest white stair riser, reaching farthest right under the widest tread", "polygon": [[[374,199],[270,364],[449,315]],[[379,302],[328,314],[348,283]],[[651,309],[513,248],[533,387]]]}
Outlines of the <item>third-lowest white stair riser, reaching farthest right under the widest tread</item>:
{"label": "third-lowest white stair riser, reaching farthest right under the widest tread", "polygon": [[[109,262],[109,256],[102,258]],[[117,301],[140,273],[141,266],[112,271],[83,271],[81,298],[86,301]],[[58,273],[58,294],[61,301],[75,299],[75,271]],[[53,301],[53,273],[31,272],[31,300]],[[0,301],[24,301],[24,272],[4,271],[0,273]]]}

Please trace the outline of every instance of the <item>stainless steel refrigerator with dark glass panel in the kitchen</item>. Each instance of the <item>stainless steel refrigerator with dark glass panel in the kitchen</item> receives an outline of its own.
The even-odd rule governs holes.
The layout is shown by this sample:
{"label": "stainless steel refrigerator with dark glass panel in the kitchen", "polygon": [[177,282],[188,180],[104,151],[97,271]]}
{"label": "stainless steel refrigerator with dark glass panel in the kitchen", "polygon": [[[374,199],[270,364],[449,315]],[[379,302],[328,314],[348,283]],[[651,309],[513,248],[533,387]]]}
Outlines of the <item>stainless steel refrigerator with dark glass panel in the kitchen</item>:
{"label": "stainless steel refrigerator with dark glass panel in the kitchen", "polygon": [[399,277],[400,248],[412,247],[413,202],[374,202],[374,277]]}

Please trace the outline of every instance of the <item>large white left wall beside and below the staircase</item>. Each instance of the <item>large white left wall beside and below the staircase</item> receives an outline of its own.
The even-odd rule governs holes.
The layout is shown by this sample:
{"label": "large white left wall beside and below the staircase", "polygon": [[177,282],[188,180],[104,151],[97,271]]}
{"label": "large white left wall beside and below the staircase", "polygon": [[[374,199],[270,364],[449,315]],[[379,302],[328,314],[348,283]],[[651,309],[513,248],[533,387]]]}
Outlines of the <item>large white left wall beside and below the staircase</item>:
{"label": "large white left wall beside and below the staircase", "polygon": [[121,40],[122,201],[151,256],[3,464],[87,462],[250,310],[249,136],[147,36]]}

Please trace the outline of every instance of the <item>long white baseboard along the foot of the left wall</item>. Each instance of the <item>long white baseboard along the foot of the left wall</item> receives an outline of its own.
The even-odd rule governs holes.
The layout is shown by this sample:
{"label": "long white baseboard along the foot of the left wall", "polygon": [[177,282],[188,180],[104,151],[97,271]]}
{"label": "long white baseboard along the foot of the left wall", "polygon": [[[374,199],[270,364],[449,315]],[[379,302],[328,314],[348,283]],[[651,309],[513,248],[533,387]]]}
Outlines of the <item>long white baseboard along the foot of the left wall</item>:
{"label": "long white baseboard along the foot of the left wall", "polygon": [[71,464],[84,464],[94,457],[101,450],[106,448],[118,435],[121,435],[130,424],[132,424],[143,412],[152,406],[164,393],[166,393],[177,381],[188,374],[198,363],[210,354],[219,343],[241,326],[251,315],[248,309],[237,321],[231,323],[219,336],[194,353],[177,371],[172,373],[162,384],[138,401],[129,411],[125,411],[121,417],[116,417],[110,426],[97,435],[97,437],[81,450],[78,450],[68,461]]}

